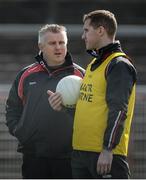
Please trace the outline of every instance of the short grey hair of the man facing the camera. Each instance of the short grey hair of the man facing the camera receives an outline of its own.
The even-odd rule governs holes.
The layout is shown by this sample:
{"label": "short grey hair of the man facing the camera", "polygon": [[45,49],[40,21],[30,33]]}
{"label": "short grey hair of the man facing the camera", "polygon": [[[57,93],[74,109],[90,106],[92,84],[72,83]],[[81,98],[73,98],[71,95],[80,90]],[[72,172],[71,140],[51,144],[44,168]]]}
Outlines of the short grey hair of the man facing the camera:
{"label": "short grey hair of the man facing the camera", "polygon": [[59,33],[62,31],[65,32],[66,38],[67,38],[67,29],[65,26],[58,25],[58,24],[46,24],[38,32],[38,43],[42,42],[42,37],[47,32]]}

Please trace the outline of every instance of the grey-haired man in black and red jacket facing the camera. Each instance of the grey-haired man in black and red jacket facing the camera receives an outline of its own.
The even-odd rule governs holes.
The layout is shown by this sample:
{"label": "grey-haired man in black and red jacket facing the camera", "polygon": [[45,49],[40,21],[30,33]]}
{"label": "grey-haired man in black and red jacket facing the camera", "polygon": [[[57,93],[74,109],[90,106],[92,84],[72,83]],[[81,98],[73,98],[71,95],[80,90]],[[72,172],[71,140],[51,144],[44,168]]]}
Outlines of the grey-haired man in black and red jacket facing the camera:
{"label": "grey-haired man in black and red jacket facing the camera", "polygon": [[6,103],[6,124],[23,153],[23,178],[71,178],[73,118],[52,110],[47,90],[59,80],[84,70],[67,52],[64,26],[45,25],[39,31],[36,62],[18,73]]}

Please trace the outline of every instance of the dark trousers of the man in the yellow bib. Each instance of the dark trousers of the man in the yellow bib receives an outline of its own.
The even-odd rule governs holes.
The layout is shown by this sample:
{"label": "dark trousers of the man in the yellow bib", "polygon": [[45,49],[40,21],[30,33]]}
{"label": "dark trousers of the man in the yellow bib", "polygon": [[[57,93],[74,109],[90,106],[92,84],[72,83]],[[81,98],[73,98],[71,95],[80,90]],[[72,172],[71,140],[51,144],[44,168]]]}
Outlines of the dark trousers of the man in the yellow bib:
{"label": "dark trousers of the man in the yellow bib", "polygon": [[111,172],[99,175],[96,171],[99,153],[73,151],[72,175],[74,179],[129,179],[130,171],[126,157],[113,155]]}

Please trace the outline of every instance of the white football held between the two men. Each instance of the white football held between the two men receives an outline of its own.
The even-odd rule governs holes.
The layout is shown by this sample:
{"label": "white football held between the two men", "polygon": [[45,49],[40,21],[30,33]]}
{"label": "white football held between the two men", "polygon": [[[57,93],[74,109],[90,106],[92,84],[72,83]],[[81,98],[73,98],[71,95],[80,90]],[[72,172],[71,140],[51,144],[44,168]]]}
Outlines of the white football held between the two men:
{"label": "white football held between the two men", "polygon": [[75,107],[80,94],[82,78],[69,75],[62,78],[56,87],[56,92],[62,96],[63,105],[69,108]]}

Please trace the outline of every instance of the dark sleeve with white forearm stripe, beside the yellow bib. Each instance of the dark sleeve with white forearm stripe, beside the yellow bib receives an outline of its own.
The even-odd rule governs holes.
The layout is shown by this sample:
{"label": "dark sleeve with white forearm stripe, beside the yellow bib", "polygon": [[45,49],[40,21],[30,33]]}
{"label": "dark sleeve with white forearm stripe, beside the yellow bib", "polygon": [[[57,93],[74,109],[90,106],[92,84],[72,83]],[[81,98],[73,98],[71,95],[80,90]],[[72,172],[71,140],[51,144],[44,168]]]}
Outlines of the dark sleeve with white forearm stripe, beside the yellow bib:
{"label": "dark sleeve with white forearm stripe, beside the yellow bib", "polygon": [[106,101],[109,108],[103,146],[113,149],[119,143],[128,108],[129,97],[136,81],[136,70],[131,63],[115,61],[108,68]]}

